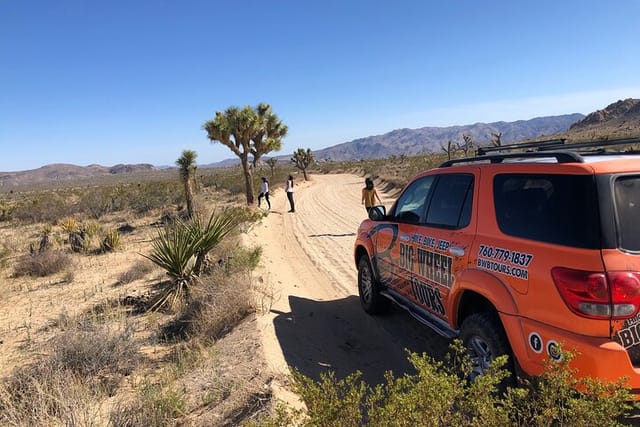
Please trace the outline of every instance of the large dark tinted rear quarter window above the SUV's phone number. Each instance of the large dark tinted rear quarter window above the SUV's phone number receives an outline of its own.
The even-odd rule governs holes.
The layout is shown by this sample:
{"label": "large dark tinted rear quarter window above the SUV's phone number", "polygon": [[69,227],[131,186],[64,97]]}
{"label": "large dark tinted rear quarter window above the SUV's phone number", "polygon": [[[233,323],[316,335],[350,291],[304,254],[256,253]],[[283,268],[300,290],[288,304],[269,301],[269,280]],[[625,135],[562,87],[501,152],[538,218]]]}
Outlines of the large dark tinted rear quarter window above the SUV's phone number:
{"label": "large dark tinted rear quarter window above the SUV's phone number", "polygon": [[595,188],[591,175],[496,175],[498,226],[510,236],[597,249],[600,226]]}

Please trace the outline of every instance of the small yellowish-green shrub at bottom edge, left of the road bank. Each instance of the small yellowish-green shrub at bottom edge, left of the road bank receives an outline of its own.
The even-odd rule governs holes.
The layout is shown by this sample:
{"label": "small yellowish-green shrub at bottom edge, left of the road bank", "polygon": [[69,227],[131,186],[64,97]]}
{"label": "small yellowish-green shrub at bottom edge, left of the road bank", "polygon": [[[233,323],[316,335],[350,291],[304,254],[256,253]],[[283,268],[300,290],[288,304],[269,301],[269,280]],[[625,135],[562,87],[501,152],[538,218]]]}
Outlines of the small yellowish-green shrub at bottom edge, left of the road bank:
{"label": "small yellowish-green shrub at bottom edge, left of the road bank", "polygon": [[120,401],[109,415],[110,424],[125,426],[172,426],[184,415],[186,400],[178,391],[145,382],[133,399]]}

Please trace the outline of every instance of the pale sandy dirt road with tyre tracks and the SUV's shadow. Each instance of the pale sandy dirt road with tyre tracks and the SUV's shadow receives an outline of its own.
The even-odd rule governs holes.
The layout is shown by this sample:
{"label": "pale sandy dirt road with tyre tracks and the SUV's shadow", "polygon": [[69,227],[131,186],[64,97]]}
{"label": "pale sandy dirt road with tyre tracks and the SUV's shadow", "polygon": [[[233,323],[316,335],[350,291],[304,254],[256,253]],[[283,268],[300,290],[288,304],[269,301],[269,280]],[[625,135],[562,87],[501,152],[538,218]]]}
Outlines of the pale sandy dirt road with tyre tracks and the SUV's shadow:
{"label": "pale sandy dirt road with tyre tracks and the SUV's shadow", "polygon": [[[272,211],[249,232],[263,248],[259,282],[273,292],[260,318],[263,344],[276,376],[295,368],[318,379],[335,371],[339,378],[362,372],[371,384],[384,372],[410,370],[405,349],[444,354],[448,342],[404,311],[371,317],[360,307],[353,261],[364,179],[355,175],[314,175],[297,183],[296,212],[282,190]],[[379,190],[387,207],[392,199]]]}

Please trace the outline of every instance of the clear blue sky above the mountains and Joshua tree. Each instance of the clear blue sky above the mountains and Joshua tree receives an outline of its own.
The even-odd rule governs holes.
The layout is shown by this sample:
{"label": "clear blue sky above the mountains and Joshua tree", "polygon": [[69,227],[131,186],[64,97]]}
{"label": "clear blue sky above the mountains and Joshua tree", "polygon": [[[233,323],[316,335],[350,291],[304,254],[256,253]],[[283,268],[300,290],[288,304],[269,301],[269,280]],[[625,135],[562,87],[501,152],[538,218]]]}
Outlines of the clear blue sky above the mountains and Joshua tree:
{"label": "clear blue sky above the mountains and Joshua tree", "polygon": [[640,0],[0,0],[0,171],[206,164],[271,104],[283,149],[640,98]]}

